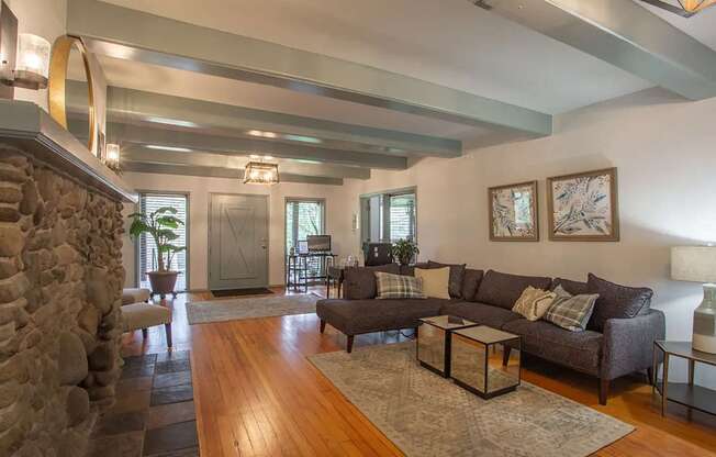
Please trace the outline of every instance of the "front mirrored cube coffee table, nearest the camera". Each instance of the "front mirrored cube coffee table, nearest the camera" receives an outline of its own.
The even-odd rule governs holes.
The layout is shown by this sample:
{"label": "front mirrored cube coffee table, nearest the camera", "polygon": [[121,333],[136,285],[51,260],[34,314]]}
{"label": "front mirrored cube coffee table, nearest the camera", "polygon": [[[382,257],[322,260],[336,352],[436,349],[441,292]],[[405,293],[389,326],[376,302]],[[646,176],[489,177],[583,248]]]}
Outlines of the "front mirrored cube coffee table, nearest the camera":
{"label": "front mirrored cube coffee table, nearest the camera", "polygon": [[451,337],[450,376],[456,384],[485,400],[517,389],[522,381],[518,335],[480,325],[456,330]]}

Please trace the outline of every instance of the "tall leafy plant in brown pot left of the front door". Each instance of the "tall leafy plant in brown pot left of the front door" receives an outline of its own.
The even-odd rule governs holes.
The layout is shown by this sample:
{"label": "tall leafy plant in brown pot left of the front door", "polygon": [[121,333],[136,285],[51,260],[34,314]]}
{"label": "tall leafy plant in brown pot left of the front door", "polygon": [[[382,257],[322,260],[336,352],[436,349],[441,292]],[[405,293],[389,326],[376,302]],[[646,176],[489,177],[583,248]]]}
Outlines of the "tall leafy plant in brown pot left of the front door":
{"label": "tall leafy plant in brown pot left of the front door", "polygon": [[152,285],[152,293],[158,293],[161,298],[174,293],[179,272],[171,271],[171,261],[177,253],[187,249],[186,246],[171,244],[179,238],[175,230],[183,225],[183,222],[175,214],[177,214],[177,210],[171,207],[159,208],[149,214],[141,212],[130,214],[130,218],[133,219],[130,227],[132,238],[136,239],[142,234],[148,234],[152,235],[157,246],[157,270],[147,271],[147,276]]}

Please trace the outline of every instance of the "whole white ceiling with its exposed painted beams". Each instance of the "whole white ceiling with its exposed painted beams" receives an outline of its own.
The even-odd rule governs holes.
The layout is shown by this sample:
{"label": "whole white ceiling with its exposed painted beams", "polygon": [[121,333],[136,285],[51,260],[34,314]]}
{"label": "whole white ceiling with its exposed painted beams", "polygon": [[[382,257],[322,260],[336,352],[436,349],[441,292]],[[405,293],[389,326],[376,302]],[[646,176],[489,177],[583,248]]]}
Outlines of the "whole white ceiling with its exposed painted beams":
{"label": "whole white ceiling with its exposed painted beams", "polygon": [[235,177],[259,154],[286,181],[340,185],[548,136],[555,114],[653,86],[716,94],[716,10],[488,3],[68,0],[67,29],[104,69],[130,171]]}

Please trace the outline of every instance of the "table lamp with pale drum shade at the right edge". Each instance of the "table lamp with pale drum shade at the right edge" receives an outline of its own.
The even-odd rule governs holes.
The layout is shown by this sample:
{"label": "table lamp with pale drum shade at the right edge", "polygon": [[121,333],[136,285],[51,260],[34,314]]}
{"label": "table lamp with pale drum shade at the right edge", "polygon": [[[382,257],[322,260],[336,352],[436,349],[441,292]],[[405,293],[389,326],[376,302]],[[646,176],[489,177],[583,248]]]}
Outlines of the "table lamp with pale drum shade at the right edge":
{"label": "table lamp with pale drum shade at the right edge", "polygon": [[694,311],[692,346],[696,350],[716,354],[716,247],[672,247],[671,279],[704,285],[704,301]]}

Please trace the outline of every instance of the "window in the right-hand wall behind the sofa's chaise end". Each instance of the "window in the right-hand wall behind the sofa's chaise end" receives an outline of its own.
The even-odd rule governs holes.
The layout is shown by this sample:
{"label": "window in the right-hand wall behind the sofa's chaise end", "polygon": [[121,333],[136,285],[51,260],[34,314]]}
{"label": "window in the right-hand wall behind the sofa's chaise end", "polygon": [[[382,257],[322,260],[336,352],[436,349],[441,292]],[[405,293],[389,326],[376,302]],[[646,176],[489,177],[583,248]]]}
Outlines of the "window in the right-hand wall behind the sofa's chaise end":
{"label": "window in the right-hand wall behind the sofa's chaise end", "polygon": [[415,189],[360,198],[363,243],[417,239]]}

